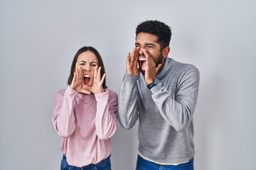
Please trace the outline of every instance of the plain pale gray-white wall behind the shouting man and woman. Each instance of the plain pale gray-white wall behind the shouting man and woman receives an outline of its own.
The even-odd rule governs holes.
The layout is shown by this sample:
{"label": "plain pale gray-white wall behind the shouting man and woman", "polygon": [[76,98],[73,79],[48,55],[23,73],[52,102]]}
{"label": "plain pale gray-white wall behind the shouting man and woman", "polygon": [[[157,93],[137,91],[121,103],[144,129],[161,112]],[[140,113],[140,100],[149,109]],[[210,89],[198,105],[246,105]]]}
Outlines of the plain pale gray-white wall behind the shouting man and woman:
{"label": "plain pale gray-white wall behind the shouting man and woman", "polygon": [[[0,169],[59,169],[53,96],[91,45],[119,94],[138,23],[171,26],[169,57],[201,72],[195,169],[256,169],[256,1],[0,0]],[[137,125],[112,137],[112,169],[132,170]]]}

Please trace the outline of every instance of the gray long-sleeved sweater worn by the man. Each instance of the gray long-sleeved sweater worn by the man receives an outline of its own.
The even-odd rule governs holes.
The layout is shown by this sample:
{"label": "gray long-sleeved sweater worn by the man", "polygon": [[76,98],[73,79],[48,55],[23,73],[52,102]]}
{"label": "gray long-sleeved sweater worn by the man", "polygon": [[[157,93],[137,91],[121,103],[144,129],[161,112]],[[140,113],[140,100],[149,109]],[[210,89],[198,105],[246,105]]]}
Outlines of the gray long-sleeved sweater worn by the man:
{"label": "gray long-sleeved sweater worn by the man", "polygon": [[139,118],[139,152],[155,162],[188,162],[194,155],[193,113],[199,71],[167,58],[148,89],[143,74],[125,74],[119,96],[119,123],[130,129]]}

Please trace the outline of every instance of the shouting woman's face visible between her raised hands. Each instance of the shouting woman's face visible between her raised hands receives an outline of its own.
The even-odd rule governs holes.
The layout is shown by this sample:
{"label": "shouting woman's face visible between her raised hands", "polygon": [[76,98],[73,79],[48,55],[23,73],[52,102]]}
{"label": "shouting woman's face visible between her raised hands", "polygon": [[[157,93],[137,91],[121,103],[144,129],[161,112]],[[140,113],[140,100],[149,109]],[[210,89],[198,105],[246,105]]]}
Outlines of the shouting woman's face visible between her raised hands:
{"label": "shouting woman's face visible between her raised hands", "polygon": [[83,83],[86,86],[92,86],[93,83],[93,70],[98,65],[98,60],[95,54],[91,51],[82,52],[78,56],[78,60],[75,63],[75,68],[82,67]]}

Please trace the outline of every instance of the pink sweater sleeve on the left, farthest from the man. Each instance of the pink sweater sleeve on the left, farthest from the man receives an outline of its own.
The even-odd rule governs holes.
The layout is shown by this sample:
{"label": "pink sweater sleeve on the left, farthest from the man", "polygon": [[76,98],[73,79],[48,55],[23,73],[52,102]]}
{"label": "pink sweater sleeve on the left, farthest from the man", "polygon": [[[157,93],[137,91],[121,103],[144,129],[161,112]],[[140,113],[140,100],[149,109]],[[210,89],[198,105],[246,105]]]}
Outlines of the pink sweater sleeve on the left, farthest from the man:
{"label": "pink sweater sleeve on the left, farthest from the man", "polygon": [[70,89],[69,86],[64,94],[62,92],[58,91],[55,94],[52,121],[58,135],[61,137],[70,137],[75,130],[73,101],[78,93]]}

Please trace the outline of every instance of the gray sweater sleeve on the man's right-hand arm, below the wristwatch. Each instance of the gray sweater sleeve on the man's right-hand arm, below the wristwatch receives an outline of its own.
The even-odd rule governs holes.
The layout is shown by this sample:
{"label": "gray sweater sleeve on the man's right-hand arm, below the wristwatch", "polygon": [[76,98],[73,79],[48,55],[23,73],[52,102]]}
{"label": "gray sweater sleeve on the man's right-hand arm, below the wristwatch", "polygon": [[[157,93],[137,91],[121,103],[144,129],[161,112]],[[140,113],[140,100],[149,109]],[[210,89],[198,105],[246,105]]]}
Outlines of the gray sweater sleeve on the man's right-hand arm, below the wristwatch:
{"label": "gray sweater sleeve on the man's right-hand arm, below the wristwatch", "polygon": [[182,72],[178,77],[175,98],[166,87],[151,89],[152,98],[163,118],[178,132],[188,128],[196,108],[199,86],[199,71],[196,68]]}

